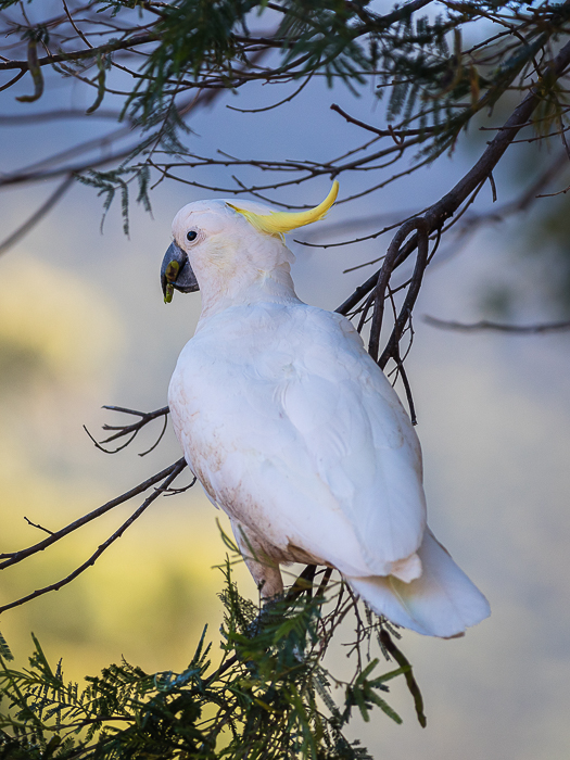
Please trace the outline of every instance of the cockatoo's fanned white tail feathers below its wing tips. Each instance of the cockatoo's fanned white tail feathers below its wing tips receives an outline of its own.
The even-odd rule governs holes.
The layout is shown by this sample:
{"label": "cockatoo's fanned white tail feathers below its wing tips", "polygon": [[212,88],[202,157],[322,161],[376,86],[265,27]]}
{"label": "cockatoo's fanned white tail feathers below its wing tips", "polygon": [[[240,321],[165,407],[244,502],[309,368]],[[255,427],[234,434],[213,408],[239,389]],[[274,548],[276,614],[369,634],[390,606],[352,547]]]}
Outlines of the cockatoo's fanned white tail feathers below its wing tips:
{"label": "cockatoo's fanned white tail feathers below its wing tips", "polygon": [[410,583],[393,575],[346,580],[376,612],[426,636],[461,635],[491,615],[489,601],[429,528],[418,555],[423,572]]}

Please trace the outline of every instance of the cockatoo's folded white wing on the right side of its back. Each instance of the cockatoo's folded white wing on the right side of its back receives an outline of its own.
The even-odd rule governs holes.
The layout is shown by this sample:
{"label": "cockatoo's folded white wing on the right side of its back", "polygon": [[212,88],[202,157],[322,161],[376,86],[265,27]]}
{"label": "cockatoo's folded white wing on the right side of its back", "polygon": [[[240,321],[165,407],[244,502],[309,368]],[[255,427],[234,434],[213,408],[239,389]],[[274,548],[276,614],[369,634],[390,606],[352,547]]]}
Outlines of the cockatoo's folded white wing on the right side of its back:
{"label": "cockatoo's folded white wing on the right side of its back", "polygon": [[368,567],[378,572],[421,543],[419,441],[351,322],[319,309],[307,309],[305,322],[311,349],[283,390],[283,408],[354,525]]}

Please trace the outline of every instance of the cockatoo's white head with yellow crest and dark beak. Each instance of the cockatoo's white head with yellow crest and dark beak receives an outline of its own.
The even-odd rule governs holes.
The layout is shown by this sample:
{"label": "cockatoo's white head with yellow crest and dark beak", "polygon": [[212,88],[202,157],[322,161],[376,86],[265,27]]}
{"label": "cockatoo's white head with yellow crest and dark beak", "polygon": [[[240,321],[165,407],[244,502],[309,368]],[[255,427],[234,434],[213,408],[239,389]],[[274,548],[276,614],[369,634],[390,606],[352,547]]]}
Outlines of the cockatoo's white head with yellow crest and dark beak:
{"label": "cockatoo's white head with yellow crest and dark beak", "polygon": [[173,242],[163,258],[161,283],[169,303],[174,290],[204,291],[206,284],[221,289],[240,280],[259,278],[284,267],[293,258],[283,235],[322,219],[334,203],[339,183],[315,208],[275,212],[252,201],[197,201],[180,208],[173,221]]}

